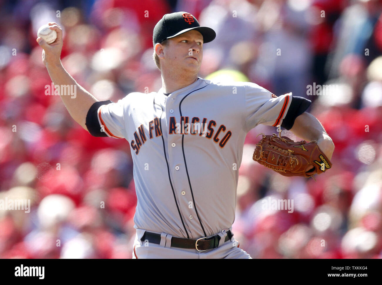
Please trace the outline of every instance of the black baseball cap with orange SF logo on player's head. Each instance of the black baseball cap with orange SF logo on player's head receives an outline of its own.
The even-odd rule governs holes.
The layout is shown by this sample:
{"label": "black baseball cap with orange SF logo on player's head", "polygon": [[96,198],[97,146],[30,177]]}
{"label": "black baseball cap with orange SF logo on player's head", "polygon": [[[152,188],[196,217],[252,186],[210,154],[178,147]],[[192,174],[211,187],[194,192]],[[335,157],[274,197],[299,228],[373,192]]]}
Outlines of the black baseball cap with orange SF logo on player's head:
{"label": "black baseball cap with orange SF logo on player's head", "polygon": [[215,39],[216,33],[208,27],[201,27],[197,19],[187,12],[176,12],[165,14],[162,19],[155,25],[152,34],[152,42],[154,44],[161,43],[165,39],[179,36],[185,32],[196,30],[203,36],[203,43],[210,42]]}

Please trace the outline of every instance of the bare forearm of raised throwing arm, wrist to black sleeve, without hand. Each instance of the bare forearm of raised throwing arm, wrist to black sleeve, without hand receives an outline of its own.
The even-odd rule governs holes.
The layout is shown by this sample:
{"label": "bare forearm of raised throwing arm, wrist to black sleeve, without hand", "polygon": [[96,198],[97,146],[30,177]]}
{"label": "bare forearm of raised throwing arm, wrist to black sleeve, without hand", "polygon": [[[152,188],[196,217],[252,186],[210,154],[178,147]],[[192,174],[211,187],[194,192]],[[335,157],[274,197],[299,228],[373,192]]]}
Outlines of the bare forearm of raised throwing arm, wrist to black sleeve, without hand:
{"label": "bare forearm of raised throwing arm, wrist to black sleeve, without hand", "polygon": [[65,104],[66,109],[68,109],[71,117],[79,123],[85,130],[87,130],[85,122],[86,115],[94,102],[98,100],[95,99],[89,92],[87,92],[81,85],[79,85],[73,77],[65,70],[65,68],[59,65],[47,65],[47,70],[53,84],[59,86],[73,86],[75,91],[75,96],[68,96],[65,94],[60,94],[60,90],[57,90],[60,94],[62,101]]}

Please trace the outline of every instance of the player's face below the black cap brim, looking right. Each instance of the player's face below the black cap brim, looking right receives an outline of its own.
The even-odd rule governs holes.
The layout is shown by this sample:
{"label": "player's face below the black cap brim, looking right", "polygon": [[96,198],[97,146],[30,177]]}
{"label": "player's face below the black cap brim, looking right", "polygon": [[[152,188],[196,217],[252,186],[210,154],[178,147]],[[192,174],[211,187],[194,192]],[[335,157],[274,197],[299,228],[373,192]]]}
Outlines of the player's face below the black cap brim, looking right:
{"label": "player's face below the black cap brim, looking right", "polygon": [[191,30],[170,39],[165,52],[166,66],[172,70],[197,73],[203,58],[203,36]]}

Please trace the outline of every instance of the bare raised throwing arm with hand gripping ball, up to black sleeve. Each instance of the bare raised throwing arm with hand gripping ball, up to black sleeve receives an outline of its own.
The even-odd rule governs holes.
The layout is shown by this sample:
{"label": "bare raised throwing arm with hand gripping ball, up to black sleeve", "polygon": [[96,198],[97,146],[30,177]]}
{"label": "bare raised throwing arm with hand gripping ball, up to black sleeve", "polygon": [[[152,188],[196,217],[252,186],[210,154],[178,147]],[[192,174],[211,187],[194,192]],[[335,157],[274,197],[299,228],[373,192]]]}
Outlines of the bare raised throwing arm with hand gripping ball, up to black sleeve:
{"label": "bare raised throwing arm with hand gripping ball, up to black sleeve", "polygon": [[[46,66],[50,79],[55,86],[60,86],[56,89],[58,94],[60,94],[61,99],[63,100],[65,107],[68,109],[71,117],[79,123],[85,130],[86,127],[86,115],[94,102],[98,100],[95,99],[89,92],[87,92],[82,86],[80,86],[73,77],[65,70],[62,66],[60,56],[63,46],[63,37],[62,29],[55,22],[50,22],[49,28],[57,32],[57,39],[52,44],[47,44],[45,40],[41,37],[38,37],[36,40],[38,44],[42,47],[42,61]],[[74,91],[74,94],[61,94],[61,87],[66,89],[66,91]],[[67,92],[66,92],[67,93]]]}

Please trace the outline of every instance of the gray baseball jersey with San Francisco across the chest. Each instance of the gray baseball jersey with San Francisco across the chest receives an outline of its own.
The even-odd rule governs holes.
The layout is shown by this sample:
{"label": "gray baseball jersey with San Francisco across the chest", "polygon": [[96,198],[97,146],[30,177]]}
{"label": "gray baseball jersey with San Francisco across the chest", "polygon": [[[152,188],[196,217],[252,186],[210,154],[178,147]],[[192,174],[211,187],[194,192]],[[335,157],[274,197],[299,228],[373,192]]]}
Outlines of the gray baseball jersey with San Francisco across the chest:
{"label": "gray baseball jersey with San Francisco across the chest", "polygon": [[[170,94],[161,88],[133,92],[116,103],[97,102],[98,123],[87,118],[87,126],[93,135],[98,128],[130,145],[136,229],[201,238],[231,228],[235,220],[238,169],[248,131],[259,124],[291,128],[310,104],[301,99],[293,96],[291,104],[291,93],[277,97],[255,83],[213,83],[198,77]],[[288,112],[291,105],[293,113]],[[283,124],[287,114],[288,127]]]}

